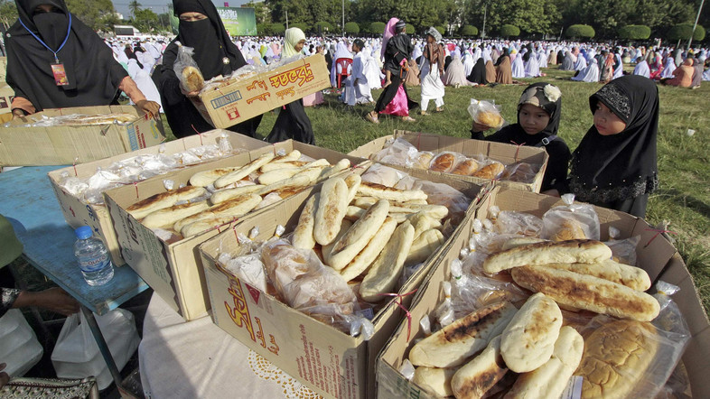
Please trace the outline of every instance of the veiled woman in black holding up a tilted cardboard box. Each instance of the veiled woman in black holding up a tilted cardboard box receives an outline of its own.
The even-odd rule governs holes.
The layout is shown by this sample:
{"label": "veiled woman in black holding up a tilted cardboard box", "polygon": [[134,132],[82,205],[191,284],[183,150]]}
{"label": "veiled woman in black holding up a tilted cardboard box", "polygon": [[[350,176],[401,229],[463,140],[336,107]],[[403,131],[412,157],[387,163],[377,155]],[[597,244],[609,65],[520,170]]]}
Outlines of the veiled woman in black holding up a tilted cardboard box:
{"label": "veiled woman in black holding up a tilted cardboard box", "polygon": [[[173,10],[180,18],[178,35],[163,53],[163,65],[156,69],[153,79],[160,91],[168,124],[176,137],[195,135],[214,129],[180,88],[180,79],[173,65],[177,59],[178,44],[194,49],[197,62],[205,80],[218,75],[227,76],[247,65],[244,56],[231,42],[217,8],[210,0],[173,0]],[[256,116],[246,122],[229,127],[229,130],[254,136],[261,122]]]}

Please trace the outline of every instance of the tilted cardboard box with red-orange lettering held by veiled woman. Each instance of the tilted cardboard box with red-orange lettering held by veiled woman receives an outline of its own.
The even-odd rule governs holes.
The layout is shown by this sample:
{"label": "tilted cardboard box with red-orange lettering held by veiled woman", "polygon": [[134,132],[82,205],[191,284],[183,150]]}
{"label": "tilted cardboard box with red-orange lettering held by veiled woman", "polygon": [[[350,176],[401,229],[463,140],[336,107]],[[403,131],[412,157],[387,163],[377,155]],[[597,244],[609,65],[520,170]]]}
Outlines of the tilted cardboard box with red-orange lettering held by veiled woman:
{"label": "tilted cardboard box with red-orange lettering held by veiled woman", "polygon": [[192,102],[207,122],[225,128],[330,86],[325,57],[315,54],[202,93]]}

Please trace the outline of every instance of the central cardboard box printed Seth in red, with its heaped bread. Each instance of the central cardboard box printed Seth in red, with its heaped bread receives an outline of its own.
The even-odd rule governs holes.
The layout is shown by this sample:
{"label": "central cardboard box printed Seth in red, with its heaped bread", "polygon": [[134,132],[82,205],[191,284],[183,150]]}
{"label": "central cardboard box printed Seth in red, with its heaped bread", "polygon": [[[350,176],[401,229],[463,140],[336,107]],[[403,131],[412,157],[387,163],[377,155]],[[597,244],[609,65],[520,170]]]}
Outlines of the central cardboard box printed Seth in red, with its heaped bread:
{"label": "central cardboard box printed Seth in red, with its heaped bread", "polygon": [[200,247],[214,321],[318,394],[372,397],[400,307],[479,193],[374,164],[244,218]]}

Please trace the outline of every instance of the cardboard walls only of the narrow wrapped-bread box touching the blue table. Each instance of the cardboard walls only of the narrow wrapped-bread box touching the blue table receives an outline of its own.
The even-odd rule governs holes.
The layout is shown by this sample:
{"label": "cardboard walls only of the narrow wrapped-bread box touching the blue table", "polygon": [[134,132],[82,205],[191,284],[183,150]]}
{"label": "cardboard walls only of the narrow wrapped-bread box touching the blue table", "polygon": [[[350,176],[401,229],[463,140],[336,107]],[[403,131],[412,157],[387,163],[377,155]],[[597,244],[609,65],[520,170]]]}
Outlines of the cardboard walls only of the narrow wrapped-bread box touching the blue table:
{"label": "cardboard walls only of the narrow wrapped-bread box touching the blue table", "polygon": [[[246,135],[229,132],[228,130],[212,130],[205,132],[202,135],[191,135],[179,140],[165,143],[162,146],[153,146],[138,150],[132,153],[122,153],[120,155],[105,158],[99,161],[79,163],[76,166],[68,166],[48,173],[51,181],[51,187],[54,194],[57,196],[61,206],[61,212],[64,214],[64,219],[71,227],[90,226],[94,230],[94,234],[100,237],[107,246],[111,254],[111,259],[114,265],[120,266],[126,264],[126,261],[121,257],[121,250],[118,246],[116,231],[114,230],[111,217],[108,215],[108,210],[103,205],[90,205],[82,200],[74,197],[67,190],[60,186],[62,174],[69,173],[70,176],[76,176],[79,179],[88,179],[97,168],[106,168],[110,164],[118,161],[123,161],[128,158],[133,158],[139,155],[157,154],[163,151],[165,155],[174,153],[182,153],[190,148],[200,147],[202,145],[218,144],[218,140],[222,134],[227,134],[229,143],[232,148],[239,148],[249,152],[257,148],[270,146],[270,144],[261,140],[253,139]],[[158,177],[162,180],[162,176]]]}

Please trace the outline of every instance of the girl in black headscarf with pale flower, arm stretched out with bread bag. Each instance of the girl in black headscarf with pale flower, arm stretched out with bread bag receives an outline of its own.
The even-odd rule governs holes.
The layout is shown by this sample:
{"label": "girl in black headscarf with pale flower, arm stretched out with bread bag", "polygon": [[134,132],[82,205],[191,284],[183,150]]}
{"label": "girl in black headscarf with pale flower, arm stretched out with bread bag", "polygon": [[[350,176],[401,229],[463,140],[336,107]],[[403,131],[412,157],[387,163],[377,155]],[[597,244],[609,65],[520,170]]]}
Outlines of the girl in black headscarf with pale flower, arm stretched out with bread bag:
{"label": "girl in black headscarf with pale flower, arm stretched out with bread bag", "polygon": [[546,82],[533,83],[525,88],[518,101],[518,123],[483,137],[488,126],[473,123],[471,138],[496,143],[543,147],[549,155],[547,170],[542,180],[542,191],[558,195],[565,190],[570,153],[565,140],[557,137],[562,113],[560,89]]}

